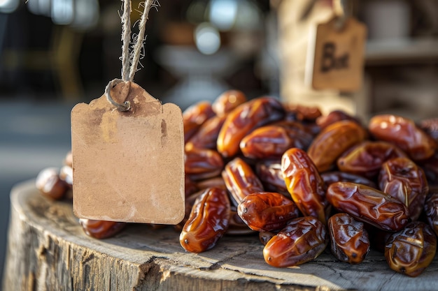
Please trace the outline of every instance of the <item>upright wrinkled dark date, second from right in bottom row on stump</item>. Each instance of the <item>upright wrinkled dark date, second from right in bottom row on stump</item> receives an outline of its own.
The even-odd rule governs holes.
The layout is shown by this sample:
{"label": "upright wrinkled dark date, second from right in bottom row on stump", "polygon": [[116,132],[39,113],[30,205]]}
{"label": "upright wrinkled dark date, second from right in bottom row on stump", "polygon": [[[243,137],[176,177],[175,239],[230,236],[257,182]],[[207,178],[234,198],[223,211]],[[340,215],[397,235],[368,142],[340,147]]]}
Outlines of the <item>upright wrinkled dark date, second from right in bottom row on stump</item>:
{"label": "upright wrinkled dark date, second from right in bottom row on stump", "polygon": [[369,252],[368,232],[364,224],[351,215],[334,214],[327,223],[330,234],[330,250],[342,262],[358,264]]}

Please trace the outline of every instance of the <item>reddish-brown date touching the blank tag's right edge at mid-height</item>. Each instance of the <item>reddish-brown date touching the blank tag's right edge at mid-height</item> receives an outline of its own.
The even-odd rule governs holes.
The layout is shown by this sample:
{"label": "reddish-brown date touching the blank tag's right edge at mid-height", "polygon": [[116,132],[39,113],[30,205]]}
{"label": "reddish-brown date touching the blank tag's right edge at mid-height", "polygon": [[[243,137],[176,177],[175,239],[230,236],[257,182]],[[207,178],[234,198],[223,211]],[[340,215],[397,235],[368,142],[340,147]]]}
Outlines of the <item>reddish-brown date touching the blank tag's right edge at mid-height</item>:
{"label": "reddish-brown date touching the blank tag's right edge at mid-height", "polygon": [[224,162],[222,156],[213,149],[185,149],[185,174],[197,181],[216,177],[222,172]]}

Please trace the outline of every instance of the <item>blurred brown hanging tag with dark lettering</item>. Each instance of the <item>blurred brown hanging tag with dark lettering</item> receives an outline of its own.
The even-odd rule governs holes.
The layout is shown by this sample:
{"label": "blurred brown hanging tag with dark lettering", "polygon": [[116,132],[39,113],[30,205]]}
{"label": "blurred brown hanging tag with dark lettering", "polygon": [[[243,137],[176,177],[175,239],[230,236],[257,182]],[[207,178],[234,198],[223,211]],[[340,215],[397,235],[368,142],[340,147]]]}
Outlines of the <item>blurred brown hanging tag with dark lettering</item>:
{"label": "blurred brown hanging tag with dark lettering", "polygon": [[337,27],[337,17],[311,32],[306,60],[306,83],[313,89],[357,91],[362,87],[367,29],[348,17]]}

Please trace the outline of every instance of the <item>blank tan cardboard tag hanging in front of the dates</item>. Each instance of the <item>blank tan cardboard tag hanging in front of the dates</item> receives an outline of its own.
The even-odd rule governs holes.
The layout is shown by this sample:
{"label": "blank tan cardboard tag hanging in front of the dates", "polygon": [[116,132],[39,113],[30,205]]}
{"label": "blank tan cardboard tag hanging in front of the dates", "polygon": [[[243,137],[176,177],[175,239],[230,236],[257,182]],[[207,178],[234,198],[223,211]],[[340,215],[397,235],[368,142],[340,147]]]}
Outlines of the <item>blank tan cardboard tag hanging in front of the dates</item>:
{"label": "blank tan cardboard tag hanging in front of the dates", "polygon": [[162,105],[138,84],[71,110],[73,211],[78,218],[177,224],[183,220],[184,133],[181,109]]}

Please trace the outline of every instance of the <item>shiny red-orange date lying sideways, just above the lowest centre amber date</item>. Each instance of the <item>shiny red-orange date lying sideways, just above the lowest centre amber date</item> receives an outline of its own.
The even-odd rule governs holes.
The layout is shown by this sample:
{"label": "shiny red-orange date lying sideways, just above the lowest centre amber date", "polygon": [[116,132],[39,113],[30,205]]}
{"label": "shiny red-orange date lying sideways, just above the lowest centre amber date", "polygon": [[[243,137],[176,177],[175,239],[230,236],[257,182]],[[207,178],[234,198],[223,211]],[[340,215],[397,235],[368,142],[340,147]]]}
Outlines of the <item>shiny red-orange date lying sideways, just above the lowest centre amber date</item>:
{"label": "shiny red-orange date lying sideways, just above the lowest centre amber date", "polygon": [[297,206],[280,193],[257,192],[243,198],[237,207],[242,221],[257,232],[279,230],[299,216]]}

